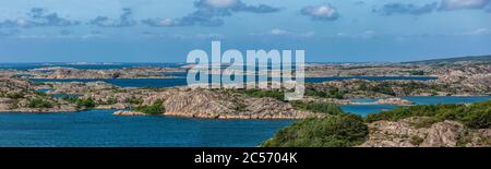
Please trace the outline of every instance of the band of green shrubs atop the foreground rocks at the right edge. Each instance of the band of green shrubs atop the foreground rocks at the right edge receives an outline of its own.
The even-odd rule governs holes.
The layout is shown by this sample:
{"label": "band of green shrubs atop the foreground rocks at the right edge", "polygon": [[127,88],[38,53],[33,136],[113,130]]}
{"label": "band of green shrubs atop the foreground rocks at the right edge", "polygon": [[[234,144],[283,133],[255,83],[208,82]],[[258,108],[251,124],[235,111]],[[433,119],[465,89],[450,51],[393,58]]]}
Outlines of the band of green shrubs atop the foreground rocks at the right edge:
{"label": "band of green shrubs atop the foreground rocks at the right edge", "polygon": [[428,125],[443,120],[454,120],[472,129],[489,129],[491,128],[491,100],[487,102],[476,102],[469,106],[441,104],[398,107],[393,110],[369,114],[366,121],[396,121],[410,117],[431,118],[429,121],[423,121],[421,122],[422,124],[419,125]]}

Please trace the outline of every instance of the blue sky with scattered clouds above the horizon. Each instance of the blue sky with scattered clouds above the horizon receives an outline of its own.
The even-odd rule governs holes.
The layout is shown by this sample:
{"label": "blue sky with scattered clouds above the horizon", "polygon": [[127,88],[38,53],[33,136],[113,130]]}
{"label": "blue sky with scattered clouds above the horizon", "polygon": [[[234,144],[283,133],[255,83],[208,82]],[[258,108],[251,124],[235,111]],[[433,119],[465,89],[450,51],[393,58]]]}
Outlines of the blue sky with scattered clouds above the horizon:
{"label": "blue sky with scattered clouds above the horizon", "polygon": [[0,62],[184,62],[194,49],[308,62],[491,53],[491,0],[0,0]]}

